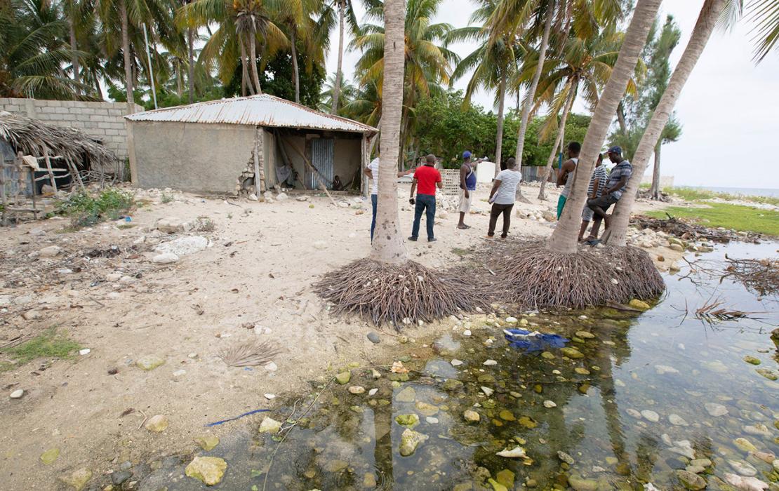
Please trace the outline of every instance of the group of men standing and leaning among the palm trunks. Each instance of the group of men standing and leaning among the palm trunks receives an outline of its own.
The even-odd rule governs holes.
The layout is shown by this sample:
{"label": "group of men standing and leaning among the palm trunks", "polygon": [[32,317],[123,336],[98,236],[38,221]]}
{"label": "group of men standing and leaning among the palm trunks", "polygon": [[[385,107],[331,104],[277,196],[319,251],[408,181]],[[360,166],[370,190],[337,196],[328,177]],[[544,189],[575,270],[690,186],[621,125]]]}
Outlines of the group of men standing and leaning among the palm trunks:
{"label": "group of men standing and leaning among the palm trunks", "polygon": [[[566,201],[573,186],[573,175],[576,166],[579,163],[579,153],[581,145],[579,142],[570,142],[566,147],[568,160],[562,163],[557,176],[557,185],[562,186],[562,193],[557,204],[557,218],[562,216],[562,210],[565,209]],[[586,240],[590,244],[597,241],[597,235],[601,228],[601,222],[609,226],[610,216],[606,214],[609,207],[614,205],[622,193],[627,188],[628,180],[633,172],[633,167],[629,161],[622,158],[622,149],[619,146],[612,146],[606,152],[608,159],[615,163],[611,173],[606,173],[603,165],[603,154],[597,158],[597,163],[590,176],[590,184],[587,188],[587,206],[582,212],[582,225],[579,232],[579,240]],[[408,174],[414,174],[414,181],[411,184],[411,193],[408,202],[414,206],[414,224],[411,226],[411,237],[408,240],[417,241],[419,239],[419,228],[422,215],[425,215],[425,225],[427,228],[428,242],[435,242],[433,226],[435,223],[435,189],[443,188],[441,173],[435,168],[435,156],[425,157],[425,164],[416,170],[407,170],[399,172],[397,177],[403,177]],[[471,202],[476,191],[476,172],[471,152],[463,153],[463,163],[460,166],[460,202],[458,211],[460,220],[457,228],[460,230],[470,229],[471,226],[465,224],[465,216],[471,210]],[[371,240],[376,225],[376,202],[379,192],[379,159],[376,158],[365,167],[365,175],[372,181],[371,204],[373,209],[373,219],[371,222]],[[503,226],[501,238],[505,239],[511,226],[511,212],[516,200],[516,189],[522,181],[520,165],[516,159],[510,157],[506,160],[505,169],[501,170],[492,181],[488,202],[492,204],[490,210],[489,226],[487,230],[488,239],[495,237],[495,226],[498,218],[503,216]],[[590,235],[584,239],[584,233],[587,226],[593,223]]]}

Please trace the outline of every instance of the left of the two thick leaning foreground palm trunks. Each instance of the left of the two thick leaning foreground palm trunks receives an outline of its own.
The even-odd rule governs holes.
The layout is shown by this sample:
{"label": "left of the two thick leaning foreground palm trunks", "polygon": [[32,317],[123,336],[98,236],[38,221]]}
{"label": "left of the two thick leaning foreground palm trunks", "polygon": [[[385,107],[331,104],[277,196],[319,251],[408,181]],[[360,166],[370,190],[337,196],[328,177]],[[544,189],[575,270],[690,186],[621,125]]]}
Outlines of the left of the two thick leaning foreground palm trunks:
{"label": "left of the two thick leaning foreground palm trunks", "polygon": [[[660,9],[661,0],[638,0],[633,10],[633,19],[625,33],[622,47],[619,49],[619,58],[612,70],[612,76],[608,79],[601,98],[598,100],[595,112],[587,128],[587,136],[584,137],[582,151],[579,157],[579,165],[573,172],[573,186],[566,201],[566,208],[562,211],[555,231],[549,239],[548,248],[561,254],[574,254],[576,252],[577,238],[581,224],[581,212],[584,202],[587,200],[587,186],[590,184],[597,154],[608,134],[608,127],[616,113],[619,101],[625,95],[628,80],[636,71],[636,62],[647,44],[649,30],[654,23],[657,10]],[[636,179],[636,181],[638,181]],[[635,192],[635,191],[633,191]],[[630,191],[626,193],[629,195]]]}

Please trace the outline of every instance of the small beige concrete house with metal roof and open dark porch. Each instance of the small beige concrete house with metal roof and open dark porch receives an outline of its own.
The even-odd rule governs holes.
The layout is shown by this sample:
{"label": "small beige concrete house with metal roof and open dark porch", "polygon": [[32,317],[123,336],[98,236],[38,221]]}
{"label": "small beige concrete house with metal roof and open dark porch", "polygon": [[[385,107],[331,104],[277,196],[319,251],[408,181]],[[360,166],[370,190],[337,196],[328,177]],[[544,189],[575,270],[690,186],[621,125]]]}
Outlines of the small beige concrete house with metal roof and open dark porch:
{"label": "small beige concrete house with metal roof and open dark porch", "polygon": [[[284,188],[360,189],[376,128],[270,95],[125,116],[132,182],[237,195]],[[257,184],[256,184],[257,183]]]}

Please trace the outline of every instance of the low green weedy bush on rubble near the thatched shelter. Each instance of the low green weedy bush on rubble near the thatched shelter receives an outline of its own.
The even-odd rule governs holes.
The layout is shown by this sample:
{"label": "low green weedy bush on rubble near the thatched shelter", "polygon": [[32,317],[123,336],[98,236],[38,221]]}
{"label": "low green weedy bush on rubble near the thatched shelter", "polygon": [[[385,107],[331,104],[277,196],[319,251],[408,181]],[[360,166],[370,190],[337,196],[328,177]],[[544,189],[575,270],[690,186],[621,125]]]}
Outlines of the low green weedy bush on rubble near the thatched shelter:
{"label": "low green weedy bush on rubble near the thatched shelter", "polygon": [[116,220],[132,208],[132,195],[117,188],[108,188],[97,194],[86,191],[73,193],[59,202],[55,212],[70,218],[73,229],[93,226],[101,220]]}

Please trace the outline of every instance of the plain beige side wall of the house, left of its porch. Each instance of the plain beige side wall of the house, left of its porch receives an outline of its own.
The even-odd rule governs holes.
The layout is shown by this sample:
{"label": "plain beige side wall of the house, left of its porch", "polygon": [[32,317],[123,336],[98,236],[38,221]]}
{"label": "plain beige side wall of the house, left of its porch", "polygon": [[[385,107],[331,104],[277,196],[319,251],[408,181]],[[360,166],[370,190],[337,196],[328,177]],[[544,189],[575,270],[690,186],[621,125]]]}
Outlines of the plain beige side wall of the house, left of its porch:
{"label": "plain beige side wall of the house, left of its porch", "polygon": [[134,182],[140,188],[234,195],[238,175],[252,160],[253,126],[171,121],[129,125]]}

